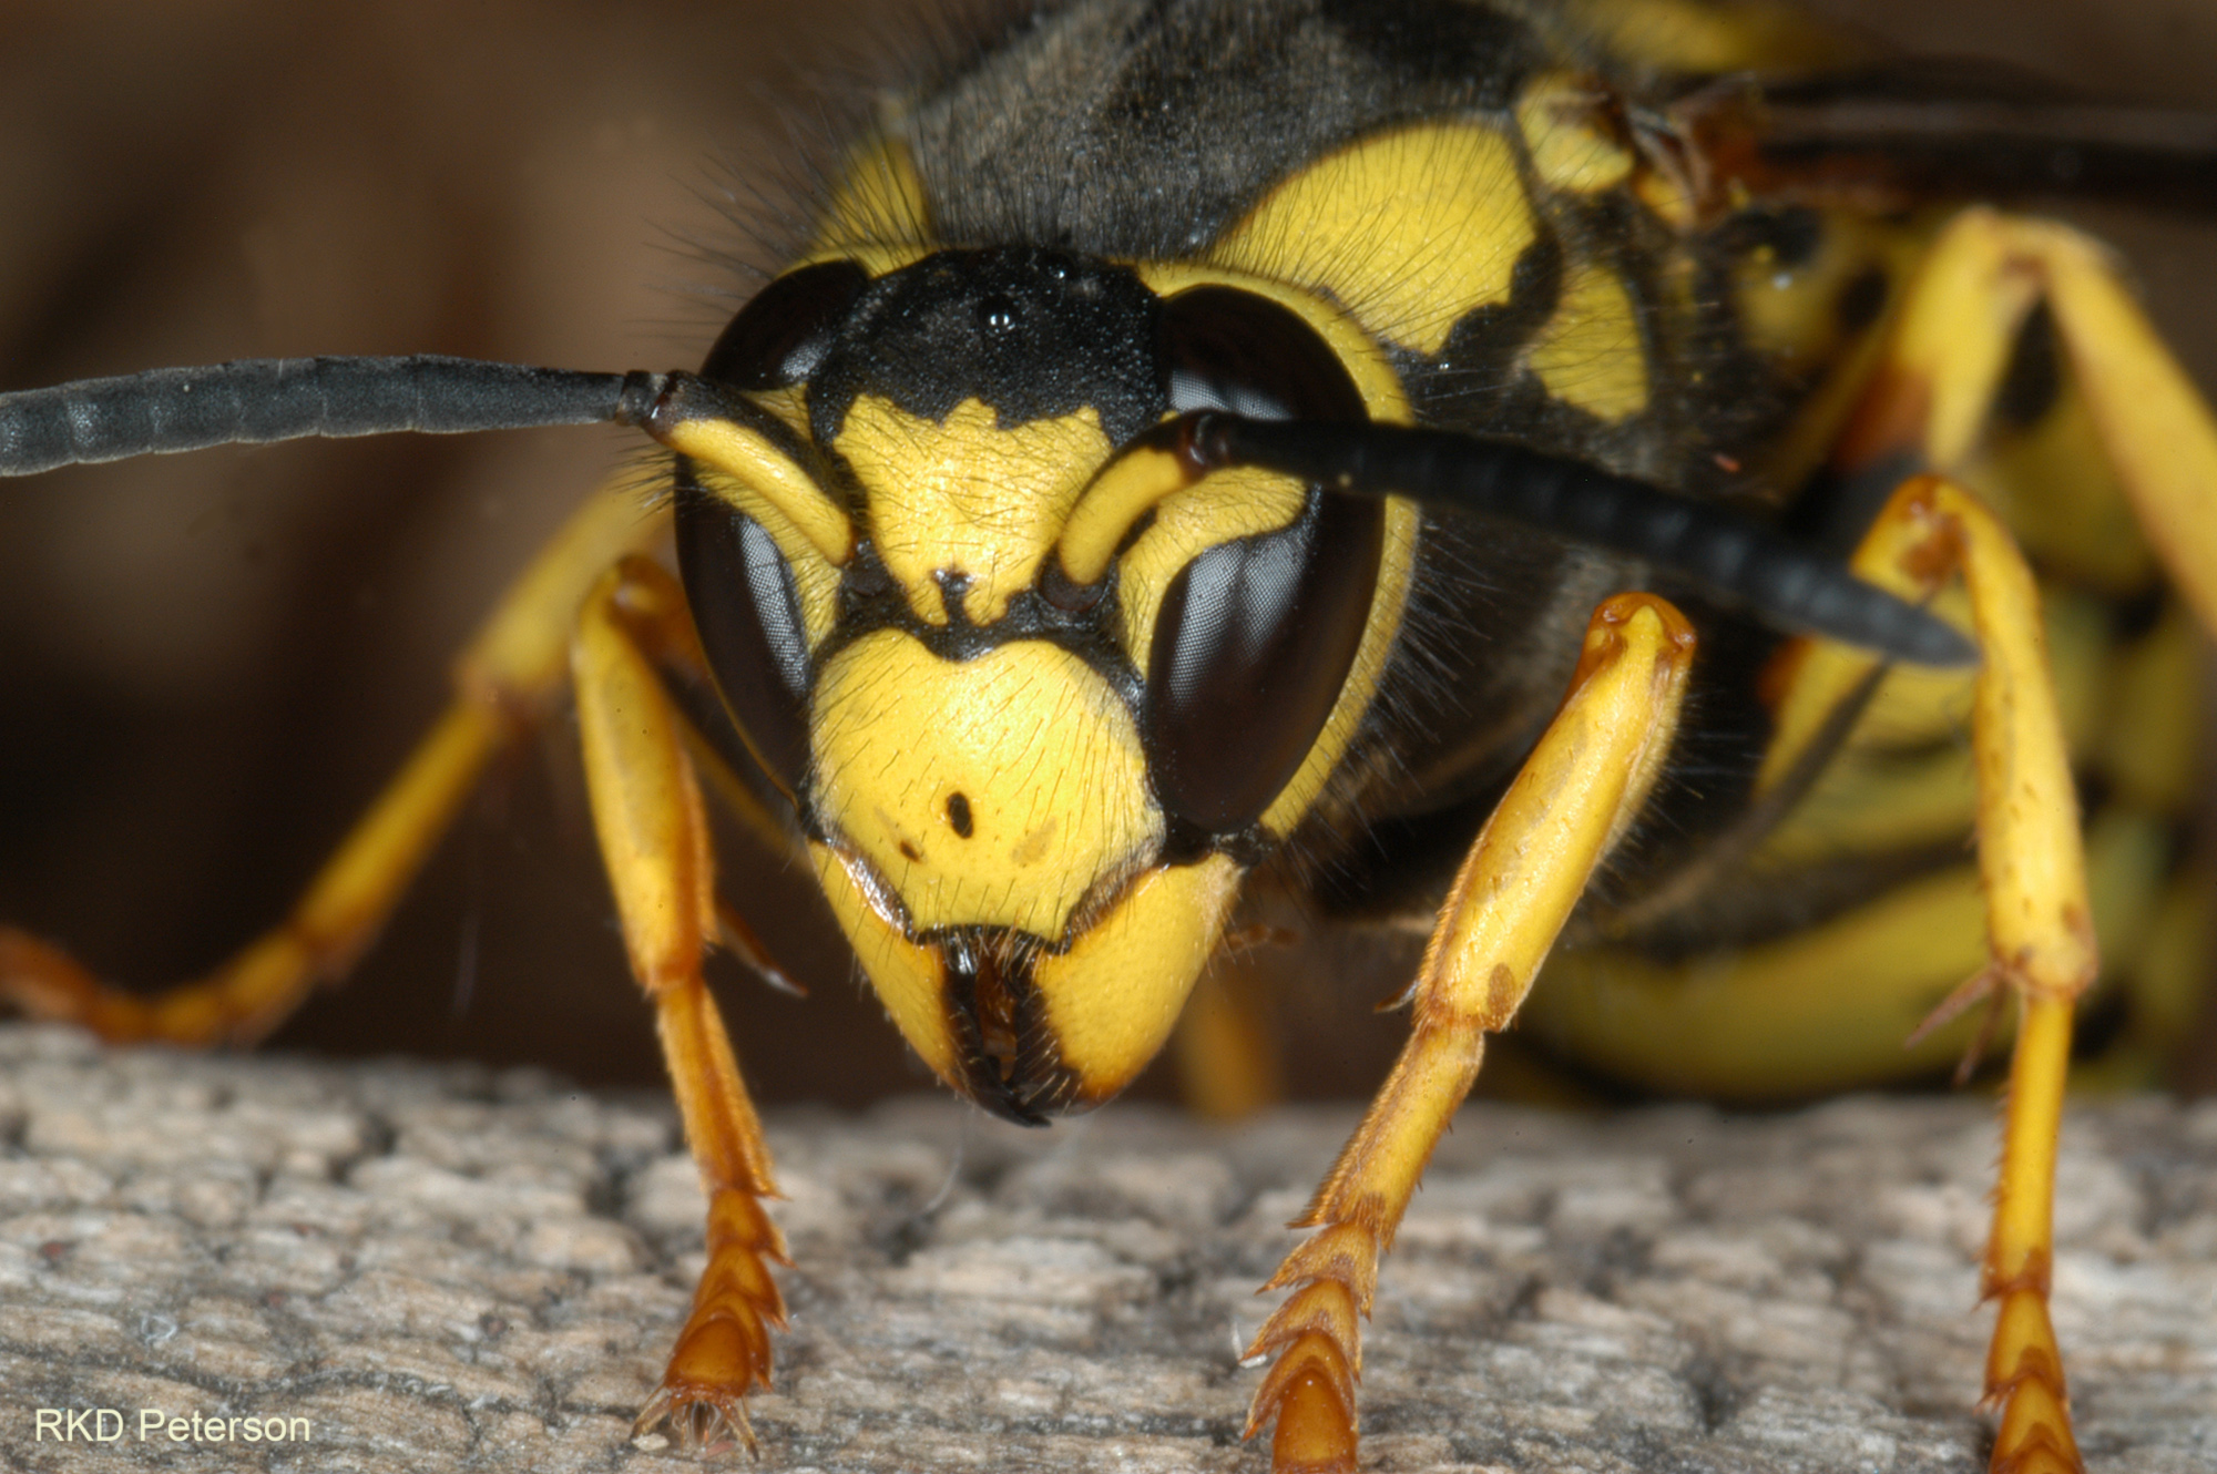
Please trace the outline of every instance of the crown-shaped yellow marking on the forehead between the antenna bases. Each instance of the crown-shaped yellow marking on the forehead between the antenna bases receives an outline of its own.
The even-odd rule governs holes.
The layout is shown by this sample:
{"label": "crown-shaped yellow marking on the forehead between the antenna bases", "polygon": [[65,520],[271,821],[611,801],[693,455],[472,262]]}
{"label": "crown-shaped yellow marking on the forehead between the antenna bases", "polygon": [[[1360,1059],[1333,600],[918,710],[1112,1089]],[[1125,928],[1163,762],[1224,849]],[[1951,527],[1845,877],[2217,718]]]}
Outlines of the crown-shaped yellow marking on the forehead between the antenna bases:
{"label": "crown-shaped yellow marking on the forehead between the antenna bases", "polygon": [[973,625],[1007,614],[1113,450],[1091,406],[1002,430],[978,399],[933,423],[873,395],[854,401],[834,446],[869,490],[878,556],[933,625],[947,623],[942,572],[969,576]]}

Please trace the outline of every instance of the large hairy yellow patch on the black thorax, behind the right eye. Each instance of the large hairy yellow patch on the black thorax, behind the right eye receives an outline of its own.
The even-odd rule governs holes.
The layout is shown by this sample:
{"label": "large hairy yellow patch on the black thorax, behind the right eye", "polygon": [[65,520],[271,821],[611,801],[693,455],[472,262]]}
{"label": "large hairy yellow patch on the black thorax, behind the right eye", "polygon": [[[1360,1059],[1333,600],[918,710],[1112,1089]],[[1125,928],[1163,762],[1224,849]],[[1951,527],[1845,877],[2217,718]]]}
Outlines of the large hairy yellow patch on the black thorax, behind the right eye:
{"label": "large hairy yellow patch on the black thorax, behind the right eye", "polygon": [[1516,146],[1479,122],[1397,129],[1279,184],[1210,262],[1328,290],[1355,319],[1439,352],[1468,313],[1508,301],[1539,237]]}

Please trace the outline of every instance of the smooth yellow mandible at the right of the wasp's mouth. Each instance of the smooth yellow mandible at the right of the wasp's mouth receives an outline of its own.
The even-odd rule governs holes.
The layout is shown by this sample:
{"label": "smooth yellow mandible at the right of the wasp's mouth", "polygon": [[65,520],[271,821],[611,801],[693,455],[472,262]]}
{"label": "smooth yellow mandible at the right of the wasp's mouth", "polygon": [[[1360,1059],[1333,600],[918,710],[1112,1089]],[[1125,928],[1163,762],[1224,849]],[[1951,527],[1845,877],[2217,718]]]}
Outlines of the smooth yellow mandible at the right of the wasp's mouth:
{"label": "smooth yellow mandible at the right of the wasp's mouth", "polygon": [[1071,951],[1033,966],[1055,1048],[1086,1099],[1122,1091],[1162,1048],[1244,873],[1224,856],[1153,869]]}

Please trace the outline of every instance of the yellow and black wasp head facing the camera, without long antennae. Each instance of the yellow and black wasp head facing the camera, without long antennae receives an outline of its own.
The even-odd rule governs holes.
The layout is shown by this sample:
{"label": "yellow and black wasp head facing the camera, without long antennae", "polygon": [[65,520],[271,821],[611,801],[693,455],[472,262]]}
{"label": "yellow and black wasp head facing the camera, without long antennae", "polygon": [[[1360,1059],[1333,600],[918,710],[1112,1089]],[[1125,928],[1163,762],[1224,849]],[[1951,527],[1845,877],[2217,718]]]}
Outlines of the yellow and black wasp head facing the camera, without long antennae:
{"label": "yellow and black wasp head facing the camera, without long antennae", "polygon": [[687,392],[703,652],[893,1022],[1011,1119],[1115,1095],[1368,700],[1386,514],[1104,468],[1197,406],[1361,419],[1348,372],[1261,297],[1000,248],[794,270]]}

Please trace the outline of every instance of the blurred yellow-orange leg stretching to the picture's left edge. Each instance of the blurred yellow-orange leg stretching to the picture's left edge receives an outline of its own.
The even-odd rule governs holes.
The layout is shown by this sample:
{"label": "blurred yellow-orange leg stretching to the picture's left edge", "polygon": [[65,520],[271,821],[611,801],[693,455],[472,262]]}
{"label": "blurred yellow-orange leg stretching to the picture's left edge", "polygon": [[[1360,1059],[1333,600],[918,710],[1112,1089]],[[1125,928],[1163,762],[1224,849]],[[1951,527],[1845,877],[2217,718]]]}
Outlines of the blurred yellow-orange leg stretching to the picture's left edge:
{"label": "blurred yellow-orange leg stretching to the picture's left edge", "polygon": [[102,984],[64,951],[0,927],[0,1000],[104,1040],[248,1044],[377,935],[488,758],[545,714],[570,678],[568,638],[592,579],[661,536],[663,519],[610,483],[570,519],[463,652],[454,700],[370,811],[266,935],[200,982],[151,997]]}

